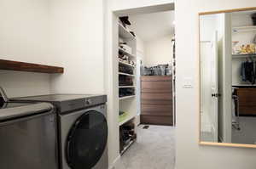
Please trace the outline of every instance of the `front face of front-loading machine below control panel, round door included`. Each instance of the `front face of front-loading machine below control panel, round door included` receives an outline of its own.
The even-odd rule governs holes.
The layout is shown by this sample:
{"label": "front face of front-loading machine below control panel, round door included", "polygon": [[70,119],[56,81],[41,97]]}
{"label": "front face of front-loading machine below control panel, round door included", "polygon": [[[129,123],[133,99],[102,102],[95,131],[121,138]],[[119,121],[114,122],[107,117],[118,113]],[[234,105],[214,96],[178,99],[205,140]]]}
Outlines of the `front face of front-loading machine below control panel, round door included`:
{"label": "front face of front-loading machine below control panel, round door included", "polygon": [[63,169],[107,169],[106,105],[60,115]]}

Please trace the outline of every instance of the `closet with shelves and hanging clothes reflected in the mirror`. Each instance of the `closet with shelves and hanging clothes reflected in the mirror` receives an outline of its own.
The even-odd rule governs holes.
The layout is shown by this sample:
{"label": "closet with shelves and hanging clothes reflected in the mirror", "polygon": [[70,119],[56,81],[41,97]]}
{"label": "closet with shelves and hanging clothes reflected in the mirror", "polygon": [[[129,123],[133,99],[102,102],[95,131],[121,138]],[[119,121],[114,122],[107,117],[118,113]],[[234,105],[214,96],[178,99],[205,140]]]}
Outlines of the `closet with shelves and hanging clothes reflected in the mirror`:
{"label": "closet with shelves and hanging clothes reflected in the mirror", "polygon": [[[253,17],[254,16],[254,17]],[[232,14],[232,142],[256,144],[256,11]],[[253,19],[254,18],[254,19]]]}

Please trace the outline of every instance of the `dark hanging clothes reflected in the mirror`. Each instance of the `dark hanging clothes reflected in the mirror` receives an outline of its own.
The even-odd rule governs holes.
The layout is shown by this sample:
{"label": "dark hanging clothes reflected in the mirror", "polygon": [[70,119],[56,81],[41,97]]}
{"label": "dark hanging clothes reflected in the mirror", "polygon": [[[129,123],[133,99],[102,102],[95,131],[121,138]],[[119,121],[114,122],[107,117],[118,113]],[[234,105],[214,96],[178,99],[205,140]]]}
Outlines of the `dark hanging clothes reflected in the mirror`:
{"label": "dark hanging clothes reflected in the mirror", "polygon": [[241,63],[241,80],[243,82],[255,83],[255,63],[254,62],[242,62]]}

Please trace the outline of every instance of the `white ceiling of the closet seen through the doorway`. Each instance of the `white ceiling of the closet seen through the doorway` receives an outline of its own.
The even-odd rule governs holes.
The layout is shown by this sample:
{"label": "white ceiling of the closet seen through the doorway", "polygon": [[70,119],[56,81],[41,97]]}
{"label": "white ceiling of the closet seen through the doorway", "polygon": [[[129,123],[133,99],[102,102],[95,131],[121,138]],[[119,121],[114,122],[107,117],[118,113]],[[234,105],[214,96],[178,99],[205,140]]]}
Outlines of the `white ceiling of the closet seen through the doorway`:
{"label": "white ceiling of the closet seen through the doorway", "polygon": [[131,30],[144,42],[174,35],[174,11],[130,15]]}

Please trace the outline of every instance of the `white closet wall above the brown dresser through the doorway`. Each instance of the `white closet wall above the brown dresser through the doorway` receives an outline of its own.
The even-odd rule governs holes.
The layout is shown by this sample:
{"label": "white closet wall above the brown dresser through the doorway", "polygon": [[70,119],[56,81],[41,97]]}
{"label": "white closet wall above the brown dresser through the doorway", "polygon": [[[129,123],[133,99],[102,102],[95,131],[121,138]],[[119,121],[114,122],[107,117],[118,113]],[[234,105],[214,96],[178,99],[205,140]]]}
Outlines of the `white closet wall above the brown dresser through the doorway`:
{"label": "white closet wall above the brown dresser through the doorway", "polygon": [[172,65],[172,36],[160,37],[145,43],[145,65]]}

